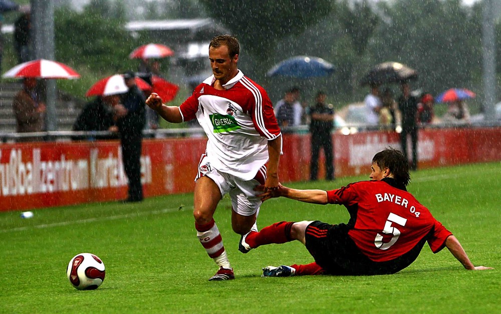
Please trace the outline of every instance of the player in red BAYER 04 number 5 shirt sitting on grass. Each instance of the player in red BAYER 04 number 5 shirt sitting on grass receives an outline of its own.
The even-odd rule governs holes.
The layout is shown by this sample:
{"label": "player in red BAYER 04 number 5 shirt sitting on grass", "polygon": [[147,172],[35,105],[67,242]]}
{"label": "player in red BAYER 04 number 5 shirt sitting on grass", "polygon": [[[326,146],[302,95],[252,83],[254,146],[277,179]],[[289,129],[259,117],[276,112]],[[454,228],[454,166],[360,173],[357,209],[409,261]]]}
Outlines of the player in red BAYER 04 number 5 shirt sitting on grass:
{"label": "player in red BAYER 04 number 5 shirt sitting on grass", "polygon": [[337,190],[298,190],[280,185],[265,191],[263,200],[284,196],[307,203],[344,205],[350,213],[347,224],[321,221],[278,222],[260,232],[242,237],[239,250],[271,243],[299,240],[315,262],[307,265],[267,266],[265,276],[291,275],[379,275],[409,266],[425,242],[433,253],[447,247],[466,269],[474,266],[459,241],[430,211],[407,192],[410,181],[407,159],[388,148],[372,159],[371,181],[348,184]]}

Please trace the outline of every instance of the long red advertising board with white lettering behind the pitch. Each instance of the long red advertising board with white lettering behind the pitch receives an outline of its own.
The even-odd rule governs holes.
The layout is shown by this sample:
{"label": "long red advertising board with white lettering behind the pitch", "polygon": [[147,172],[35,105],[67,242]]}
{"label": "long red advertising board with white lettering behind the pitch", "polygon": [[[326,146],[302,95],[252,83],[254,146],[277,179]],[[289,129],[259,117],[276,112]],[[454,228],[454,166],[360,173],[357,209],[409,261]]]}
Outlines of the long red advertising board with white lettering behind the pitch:
{"label": "long red advertising board with white lettering behind the pitch", "polygon": [[[333,134],[337,177],[367,174],[372,156],[400,147],[393,132]],[[143,141],[145,197],[191,192],[204,138]],[[285,134],[281,181],[309,179],[310,136]],[[410,145],[408,145],[410,147]],[[411,154],[409,154],[411,155]],[[419,168],[501,160],[501,128],[422,129]],[[320,176],[325,173],[323,156]],[[118,141],[0,145],[0,211],[125,199],[127,179]]]}

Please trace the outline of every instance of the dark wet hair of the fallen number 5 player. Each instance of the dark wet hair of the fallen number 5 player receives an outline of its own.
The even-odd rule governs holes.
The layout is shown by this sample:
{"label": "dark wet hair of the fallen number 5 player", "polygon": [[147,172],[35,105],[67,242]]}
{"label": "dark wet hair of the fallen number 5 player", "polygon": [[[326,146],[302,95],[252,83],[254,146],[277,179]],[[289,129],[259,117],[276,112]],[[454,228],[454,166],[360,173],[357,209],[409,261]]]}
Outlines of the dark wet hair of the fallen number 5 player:
{"label": "dark wet hair of the fallen number 5 player", "polygon": [[372,163],[378,165],[381,170],[388,168],[397,182],[405,186],[409,184],[409,163],[404,154],[398,149],[388,147],[380,151],[374,155]]}

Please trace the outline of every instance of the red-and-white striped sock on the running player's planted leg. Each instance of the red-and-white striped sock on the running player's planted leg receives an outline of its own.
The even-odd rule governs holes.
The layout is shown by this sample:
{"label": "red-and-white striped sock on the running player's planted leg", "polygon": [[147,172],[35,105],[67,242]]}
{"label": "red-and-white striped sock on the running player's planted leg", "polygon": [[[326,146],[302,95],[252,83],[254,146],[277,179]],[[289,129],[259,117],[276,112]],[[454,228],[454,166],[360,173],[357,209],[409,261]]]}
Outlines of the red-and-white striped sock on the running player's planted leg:
{"label": "red-and-white striped sock on the running player's planted leg", "polygon": [[202,244],[203,248],[219,267],[231,269],[228,256],[222,244],[221,234],[219,229],[212,219],[210,222],[199,225],[195,222],[196,236]]}

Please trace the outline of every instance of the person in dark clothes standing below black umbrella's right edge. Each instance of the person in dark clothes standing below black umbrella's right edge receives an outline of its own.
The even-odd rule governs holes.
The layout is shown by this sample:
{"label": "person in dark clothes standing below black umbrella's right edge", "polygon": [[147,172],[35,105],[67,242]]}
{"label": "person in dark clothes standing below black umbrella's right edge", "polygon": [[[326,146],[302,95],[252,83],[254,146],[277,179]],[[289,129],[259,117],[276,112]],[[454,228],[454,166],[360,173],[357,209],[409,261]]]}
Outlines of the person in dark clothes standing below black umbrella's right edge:
{"label": "person in dark clothes standing below black umbrella's right edge", "polygon": [[402,133],[400,133],[400,145],[402,153],[407,161],[407,135],[410,135],[412,143],[412,162],[410,169],[417,170],[417,99],[410,94],[408,82],[402,82],[402,95],[398,98],[398,109],[402,116]]}

